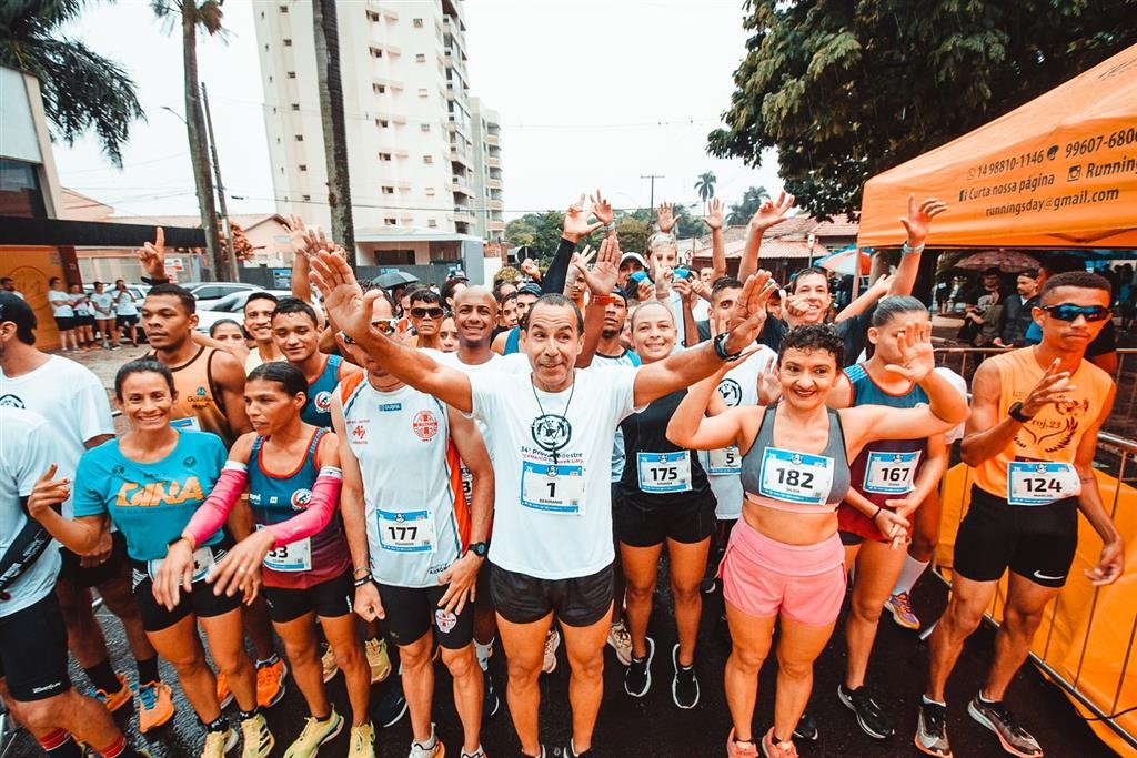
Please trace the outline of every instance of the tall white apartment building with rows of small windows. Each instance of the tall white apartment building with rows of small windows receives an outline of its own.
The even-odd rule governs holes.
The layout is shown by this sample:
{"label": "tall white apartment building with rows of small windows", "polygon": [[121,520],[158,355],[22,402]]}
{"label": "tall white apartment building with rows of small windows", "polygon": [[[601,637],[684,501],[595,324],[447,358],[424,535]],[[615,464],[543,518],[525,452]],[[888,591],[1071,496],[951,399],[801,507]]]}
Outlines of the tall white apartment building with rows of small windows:
{"label": "tall white apartment building with rows of small windows", "polygon": [[[462,5],[339,0],[337,13],[360,264],[456,258],[443,243],[484,239],[497,228],[479,216],[485,192],[497,193],[498,222],[501,203],[496,115],[492,130],[487,123],[482,142],[475,140],[481,122],[471,113]],[[326,227],[312,3],[258,2],[254,15],[277,211]],[[478,166],[483,155],[492,167]],[[479,175],[492,185],[475,186]]]}

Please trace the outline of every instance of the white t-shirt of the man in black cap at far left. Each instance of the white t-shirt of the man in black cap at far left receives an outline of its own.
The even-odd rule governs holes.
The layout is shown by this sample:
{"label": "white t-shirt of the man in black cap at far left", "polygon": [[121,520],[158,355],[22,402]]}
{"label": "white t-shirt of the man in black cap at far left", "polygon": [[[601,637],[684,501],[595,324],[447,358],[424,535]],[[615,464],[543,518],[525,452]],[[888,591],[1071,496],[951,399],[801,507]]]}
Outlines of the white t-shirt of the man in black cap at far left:
{"label": "white t-shirt of the man in black cap at far left", "polygon": [[[15,378],[0,369],[0,406],[31,410],[55,430],[52,461],[59,466],[57,478],[75,473],[88,440],[115,433],[110,402],[99,377],[61,356],[51,356],[39,368]],[[70,500],[64,502],[63,513],[72,517]]]}

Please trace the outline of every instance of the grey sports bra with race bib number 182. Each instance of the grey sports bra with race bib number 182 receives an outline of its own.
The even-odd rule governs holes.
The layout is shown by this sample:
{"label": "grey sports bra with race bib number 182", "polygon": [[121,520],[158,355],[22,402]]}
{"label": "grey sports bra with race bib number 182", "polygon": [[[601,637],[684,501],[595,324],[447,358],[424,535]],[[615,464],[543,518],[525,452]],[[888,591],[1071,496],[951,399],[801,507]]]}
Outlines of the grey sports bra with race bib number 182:
{"label": "grey sports bra with race bib number 182", "polygon": [[829,439],[820,453],[773,447],[778,406],[766,408],[754,444],[742,456],[742,489],[753,502],[800,514],[832,513],[849,489],[841,419],[829,411]]}

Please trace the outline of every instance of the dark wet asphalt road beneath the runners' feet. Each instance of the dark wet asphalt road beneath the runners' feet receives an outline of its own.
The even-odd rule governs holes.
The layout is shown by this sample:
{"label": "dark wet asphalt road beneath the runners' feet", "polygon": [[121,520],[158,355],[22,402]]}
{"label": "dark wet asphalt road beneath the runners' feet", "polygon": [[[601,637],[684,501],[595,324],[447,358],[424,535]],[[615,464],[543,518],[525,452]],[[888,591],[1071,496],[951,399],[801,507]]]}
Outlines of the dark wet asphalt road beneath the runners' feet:
{"label": "dark wet asphalt road beneath the runners' feet", "polygon": [[[665,583],[661,575],[661,586]],[[687,757],[722,756],[730,730],[730,719],[722,690],[723,663],[729,652],[725,623],[720,622],[722,601],[709,595],[704,603],[703,625],[699,634],[697,667],[702,700],[692,710],[679,710],[671,701],[670,650],[675,642],[674,624],[670,618],[670,598],[665,590],[656,595],[656,610],[652,617],[652,635],[656,641],[653,665],[653,686],[647,697],[628,697],[622,686],[623,667],[611,650],[606,651],[605,695],[597,725],[595,745],[603,756]],[[944,608],[946,592],[931,576],[926,576],[914,593],[914,603],[921,618],[933,619]],[[99,617],[107,630],[111,655],[118,668],[134,681],[134,667],[126,649],[122,627],[106,610]],[[994,736],[966,715],[966,702],[978,688],[991,651],[993,632],[982,628],[968,643],[948,686],[948,734],[956,756],[1005,755]],[[758,706],[755,714],[756,733],[761,734],[772,723],[773,677],[775,663],[767,661],[762,672]],[[890,617],[881,622],[875,655],[870,667],[869,681],[878,693],[878,701],[894,716],[897,733],[888,740],[874,740],[857,727],[850,711],[837,700],[836,690],[844,667],[843,632],[838,627],[833,640],[816,664],[816,678],[810,711],[814,715],[821,738],[812,743],[798,743],[803,757],[822,756],[913,756],[912,734],[915,728],[916,706],[927,677],[927,648],[915,633],[896,626]],[[570,735],[567,702],[567,663],[564,651],[553,674],[542,676],[541,736],[549,755],[554,748],[566,744]],[[505,667],[500,650],[490,659],[490,670],[499,692],[505,690]],[[460,725],[450,698],[450,680],[445,667],[438,664],[435,681],[435,713],[438,734],[448,745],[448,755],[457,758],[460,749]],[[164,674],[173,682],[173,673],[164,664]],[[82,672],[73,666],[75,682],[85,686]],[[342,676],[330,683],[330,692],[340,713],[348,711]],[[373,702],[377,702],[389,686],[376,684]],[[138,717],[128,708],[119,711],[118,722],[136,744],[150,750],[153,758],[190,758],[199,755],[202,730],[184,698],[175,686],[177,715],[166,726],[146,738],[138,735]],[[1097,740],[1067,701],[1061,691],[1048,683],[1030,666],[1024,667],[1009,691],[1007,701],[1019,715],[1023,726],[1031,731],[1048,756],[1109,756],[1113,755]],[[235,718],[232,707],[229,714]],[[304,726],[307,715],[304,699],[289,680],[289,692],[267,716],[276,735],[273,756],[283,756],[288,745]],[[321,750],[325,757],[342,756],[347,751],[348,730]],[[393,758],[405,756],[410,744],[410,727],[406,718],[395,726],[381,730],[376,740],[376,756]],[[503,695],[503,708],[488,719],[482,734],[487,753],[497,758],[513,756],[517,742],[513,735]],[[24,732],[17,732],[5,743],[0,758],[36,756],[42,752]],[[239,755],[236,752],[231,753]]]}

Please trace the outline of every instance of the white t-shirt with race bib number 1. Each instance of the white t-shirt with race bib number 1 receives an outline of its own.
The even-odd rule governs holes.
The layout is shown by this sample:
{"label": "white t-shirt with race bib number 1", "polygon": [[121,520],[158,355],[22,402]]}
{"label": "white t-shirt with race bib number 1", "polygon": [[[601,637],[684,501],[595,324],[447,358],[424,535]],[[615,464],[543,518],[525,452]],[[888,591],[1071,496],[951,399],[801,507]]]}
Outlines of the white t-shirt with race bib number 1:
{"label": "white t-shirt with race bib number 1", "polygon": [[578,370],[555,393],[537,390],[529,375],[471,374],[473,415],[493,428],[495,565],[564,580],[613,561],[612,441],[637,410],[637,370]]}

